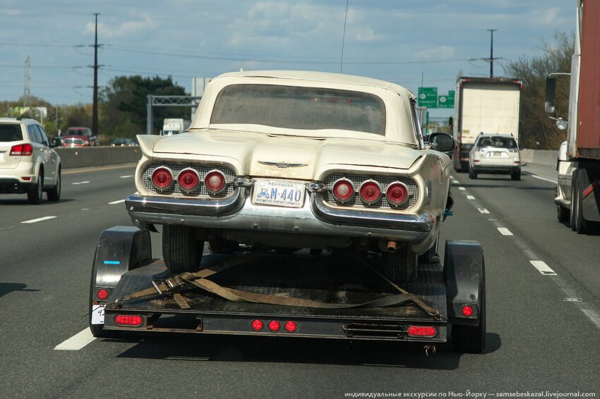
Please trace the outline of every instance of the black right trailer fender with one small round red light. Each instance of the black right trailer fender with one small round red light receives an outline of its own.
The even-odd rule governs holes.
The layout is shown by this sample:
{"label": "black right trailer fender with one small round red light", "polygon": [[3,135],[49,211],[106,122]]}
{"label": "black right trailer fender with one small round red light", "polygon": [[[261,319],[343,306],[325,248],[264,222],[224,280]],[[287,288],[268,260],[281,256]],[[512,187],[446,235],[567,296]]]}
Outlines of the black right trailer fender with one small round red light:
{"label": "black right trailer fender with one small round red light", "polygon": [[[445,245],[444,276],[446,303],[450,324],[477,326],[485,311],[484,251],[477,241],[448,240]],[[472,308],[472,314],[463,314],[463,307]]]}

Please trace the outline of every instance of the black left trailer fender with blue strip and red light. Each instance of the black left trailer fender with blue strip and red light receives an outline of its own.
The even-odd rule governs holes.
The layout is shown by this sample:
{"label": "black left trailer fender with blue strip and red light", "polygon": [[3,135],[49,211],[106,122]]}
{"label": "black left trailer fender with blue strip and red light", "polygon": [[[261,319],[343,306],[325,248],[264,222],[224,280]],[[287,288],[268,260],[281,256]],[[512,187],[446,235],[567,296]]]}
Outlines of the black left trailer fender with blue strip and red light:
{"label": "black left trailer fender with blue strip and red light", "polygon": [[[104,305],[127,271],[150,263],[152,244],[150,233],[133,226],[114,226],[102,231],[96,247],[90,281],[90,330],[96,337],[109,336],[94,312],[103,314]],[[96,316],[96,317],[95,317]],[[102,317],[100,317],[102,319]]]}

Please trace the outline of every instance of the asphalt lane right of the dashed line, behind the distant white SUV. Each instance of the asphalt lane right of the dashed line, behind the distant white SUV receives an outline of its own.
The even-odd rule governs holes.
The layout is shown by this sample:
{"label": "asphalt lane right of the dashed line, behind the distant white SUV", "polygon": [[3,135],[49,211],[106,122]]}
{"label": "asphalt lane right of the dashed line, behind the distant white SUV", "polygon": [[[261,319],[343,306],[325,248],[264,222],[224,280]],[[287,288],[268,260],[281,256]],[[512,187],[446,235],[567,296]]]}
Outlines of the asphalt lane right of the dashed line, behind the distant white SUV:
{"label": "asphalt lane right of the dashed line, behind the distant white SUV", "polygon": [[532,176],[522,176],[521,181],[493,175],[476,180],[459,173],[454,176],[498,220],[526,239],[542,260],[568,278],[568,285],[582,286],[579,295],[600,300],[600,235],[577,234],[568,223],[558,222],[553,202],[556,185]]}

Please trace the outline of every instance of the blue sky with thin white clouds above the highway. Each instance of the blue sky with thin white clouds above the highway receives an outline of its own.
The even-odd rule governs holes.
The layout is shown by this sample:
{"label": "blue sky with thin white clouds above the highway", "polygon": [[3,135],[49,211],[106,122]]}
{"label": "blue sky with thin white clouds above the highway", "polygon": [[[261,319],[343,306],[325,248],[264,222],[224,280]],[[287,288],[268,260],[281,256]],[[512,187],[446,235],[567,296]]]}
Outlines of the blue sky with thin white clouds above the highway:
{"label": "blue sky with thin white clouds above the highway", "polygon": [[[99,85],[120,75],[194,77],[233,70],[323,70],[454,90],[572,32],[575,0],[0,0],[0,101],[25,91],[52,104],[92,102],[94,16]],[[344,35],[344,19],[346,21]],[[342,39],[343,38],[343,39]],[[343,59],[342,59],[343,42]],[[518,78],[518,77],[515,77]],[[440,116],[448,110],[432,110]]]}

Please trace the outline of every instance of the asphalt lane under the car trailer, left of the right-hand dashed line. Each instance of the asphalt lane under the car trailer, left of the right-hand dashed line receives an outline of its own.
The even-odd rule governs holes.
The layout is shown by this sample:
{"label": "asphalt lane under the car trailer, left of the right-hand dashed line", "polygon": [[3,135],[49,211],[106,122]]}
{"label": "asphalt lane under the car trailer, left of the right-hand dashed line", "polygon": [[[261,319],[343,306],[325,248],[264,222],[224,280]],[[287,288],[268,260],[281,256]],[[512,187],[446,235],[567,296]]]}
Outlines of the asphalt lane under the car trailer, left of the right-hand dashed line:
{"label": "asphalt lane under the car trailer, left of the right-hand dashed line", "polygon": [[[452,345],[438,345],[435,355],[426,356],[421,345],[404,343],[158,334],[100,339],[79,351],[48,352],[49,364],[64,369],[63,378],[32,392],[51,389],[78,397],[127,393],[132,386],[136,395],[184,397],[597,391],[594,374],[599,364],[589,348],[600,342],[589,320],[576,303],[563,301],[552,276],[541,275],[529,264],[527,254],[515,248],[514,236],[499,233],[488,220],[493,214],[481,214],[465,193],[455,197],[455,215],[446,222],[442,240],[477,239],[484,247],[484,355],[461,355]],[[77,331],[79,327],[73,333]],[[98,379],[98,369],[119,370],[118,377]]]}

